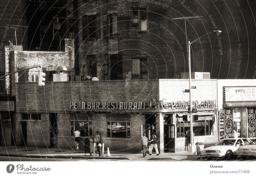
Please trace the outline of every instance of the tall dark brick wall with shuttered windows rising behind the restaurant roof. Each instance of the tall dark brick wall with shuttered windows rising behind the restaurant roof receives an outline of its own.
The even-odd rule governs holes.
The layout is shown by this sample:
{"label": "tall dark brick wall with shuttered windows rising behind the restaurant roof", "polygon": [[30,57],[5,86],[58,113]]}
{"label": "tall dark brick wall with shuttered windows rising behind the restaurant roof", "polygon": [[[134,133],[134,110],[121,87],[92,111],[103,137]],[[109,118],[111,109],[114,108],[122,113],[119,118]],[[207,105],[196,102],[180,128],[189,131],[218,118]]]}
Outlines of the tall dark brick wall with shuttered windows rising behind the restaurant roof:
{"label": "tall dark brick wall with shuttered windows rising behind the restaurant roof", "polygon": [[[79,69],[80,73],[89,75],[88,55],[98,55],[97,59],[97,76],[103,80],[103,62],[104,55],[108,51],[118,51],[118,54],[123,56],[123,79],[126,74],[132,71],[131,58],[147,58],[148,78],[172,78],[172,64],[170,35],[164,33],[160,28],[163,25],[166,28],[171,28],[171,20],[169,19],[172,13],[172,1],[162,1],[169,5],[169,8],[160,8],[151,1],[145,2],[129,2],[129,1],[92,1],[78,3],[79,35]],[[86,3],[86,4],[85,4]],[[140,33],[138,26],[132,26],[132,11],[133,7],[147,7],[147,19],[152,21],[152,25],[148,24],[148,33]],[[108,11],[117,11],[117,37],[103,38],[103,16],[107,15]],[[82,35],[82,16],[87,12],[96,12],[101,15],[100,18],[100,39],[83,40]],[[154,24],[155,22],[155,24]],[[159,24],[157,26],[157,24]],[[106,50],[103,50],[107,47]]]}

